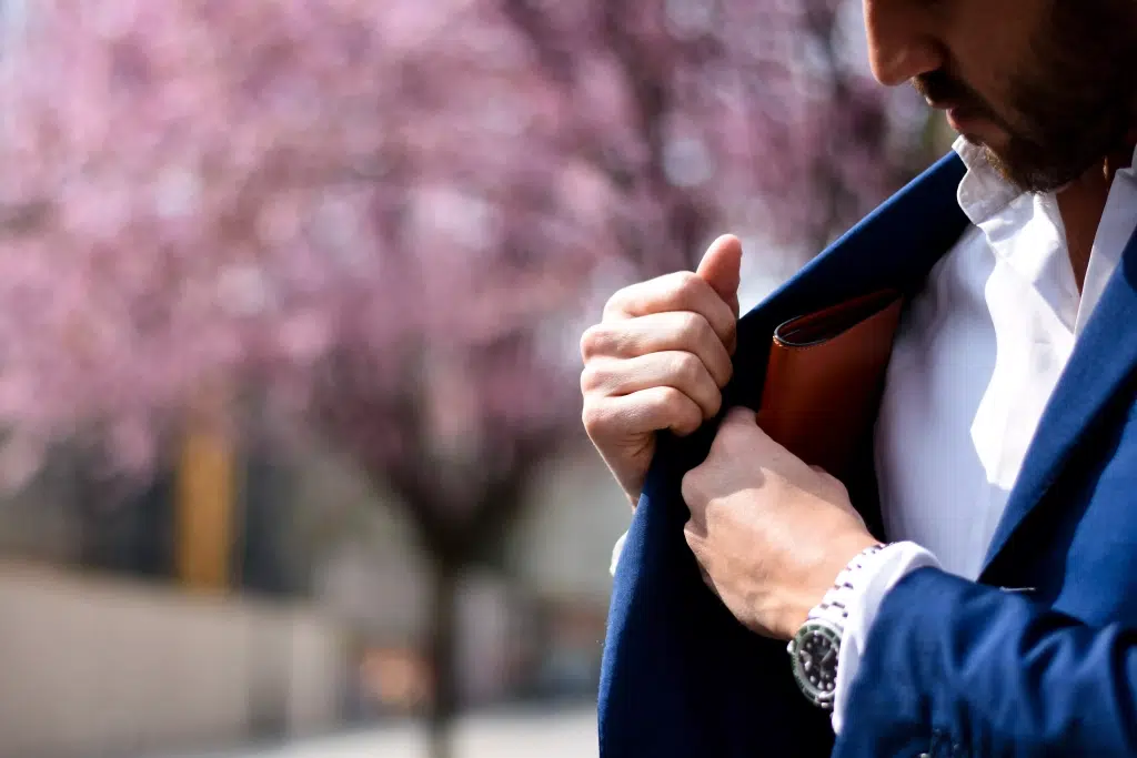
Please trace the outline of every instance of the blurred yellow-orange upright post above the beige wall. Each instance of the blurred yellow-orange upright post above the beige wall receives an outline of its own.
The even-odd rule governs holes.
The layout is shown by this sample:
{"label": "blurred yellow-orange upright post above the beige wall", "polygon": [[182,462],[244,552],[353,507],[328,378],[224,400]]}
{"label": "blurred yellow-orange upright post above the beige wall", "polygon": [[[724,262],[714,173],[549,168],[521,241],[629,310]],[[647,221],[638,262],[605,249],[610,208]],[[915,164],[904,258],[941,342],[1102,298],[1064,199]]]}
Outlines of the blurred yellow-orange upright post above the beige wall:
{"label": "blurred yellow-orange upright post above the beige wall", "polygon": [[182,440],[174,539],[182,585],[222,592],[231,580],[236,480],[232,434],[221,413],[224,406],[216,401],[211,406],[192,416]]}

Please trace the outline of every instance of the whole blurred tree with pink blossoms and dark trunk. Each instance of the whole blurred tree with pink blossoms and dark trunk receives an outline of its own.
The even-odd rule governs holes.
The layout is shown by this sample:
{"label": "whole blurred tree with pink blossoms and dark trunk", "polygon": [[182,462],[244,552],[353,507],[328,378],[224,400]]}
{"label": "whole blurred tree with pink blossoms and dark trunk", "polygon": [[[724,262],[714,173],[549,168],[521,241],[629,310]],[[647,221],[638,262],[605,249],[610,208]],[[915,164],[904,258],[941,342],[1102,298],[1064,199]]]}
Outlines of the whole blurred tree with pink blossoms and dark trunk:
{"label": "whole blurred tree with pink blossoms and dark trunk", "polygon": [[725,230],[816,251],[912,166],[837,0],[31,5],[0,95],[9,465],[82,432],[144,470],[250,395],[306,419],[433,559],[438,724],[455,577],[578,439],[597,272]]}

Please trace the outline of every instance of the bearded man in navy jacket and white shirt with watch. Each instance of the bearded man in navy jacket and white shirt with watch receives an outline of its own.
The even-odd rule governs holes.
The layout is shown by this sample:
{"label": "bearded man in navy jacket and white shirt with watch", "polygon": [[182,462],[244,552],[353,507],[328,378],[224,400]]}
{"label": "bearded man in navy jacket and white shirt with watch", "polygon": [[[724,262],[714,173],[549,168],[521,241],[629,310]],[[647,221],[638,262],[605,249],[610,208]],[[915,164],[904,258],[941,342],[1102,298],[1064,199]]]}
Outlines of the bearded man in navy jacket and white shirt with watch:
{"label": "bearded man in navy jacket and white shirt with watch", "polygon": [[[601,755],[1137,756],[1137,2],[864,14],[957,156],[741,322],[727,236],[582,339],[639,503]],[[880,285],[908,306],[846,488],[746,406],[774,325]]]}

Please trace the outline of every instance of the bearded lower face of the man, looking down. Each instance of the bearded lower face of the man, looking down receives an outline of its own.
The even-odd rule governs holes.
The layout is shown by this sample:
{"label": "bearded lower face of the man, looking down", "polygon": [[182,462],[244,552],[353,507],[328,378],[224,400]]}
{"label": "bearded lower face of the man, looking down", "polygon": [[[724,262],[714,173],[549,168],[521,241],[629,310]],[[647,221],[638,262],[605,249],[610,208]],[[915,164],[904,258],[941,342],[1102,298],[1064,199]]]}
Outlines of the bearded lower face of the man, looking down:
{"label": "bearded lower face of the man, looking down", "polygon": [[864,0],[864,8],[877,77],[910,78],[1023,190],[1073,181],[1137,123],[1135,0]]}

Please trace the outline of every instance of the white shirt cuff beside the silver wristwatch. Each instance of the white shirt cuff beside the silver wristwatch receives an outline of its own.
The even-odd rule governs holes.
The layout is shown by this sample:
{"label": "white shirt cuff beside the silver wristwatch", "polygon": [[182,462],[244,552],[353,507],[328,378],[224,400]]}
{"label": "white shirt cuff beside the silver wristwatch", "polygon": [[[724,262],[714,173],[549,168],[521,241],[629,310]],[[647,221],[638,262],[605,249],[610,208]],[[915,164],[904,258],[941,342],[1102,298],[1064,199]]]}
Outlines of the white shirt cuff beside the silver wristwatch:
{"label": "white shirt cuff beside the silver wristwatch", "polygon": [[857,574],[848,595],[845,628],[841,632],[840,661],[833,691],[833,732],[840,734],[848,709],[848,692],[864,653],[869,630],[885,595],[911,572],[924,567],[939,568],[939,561],[915,542],[894,542],[869,556]]}

